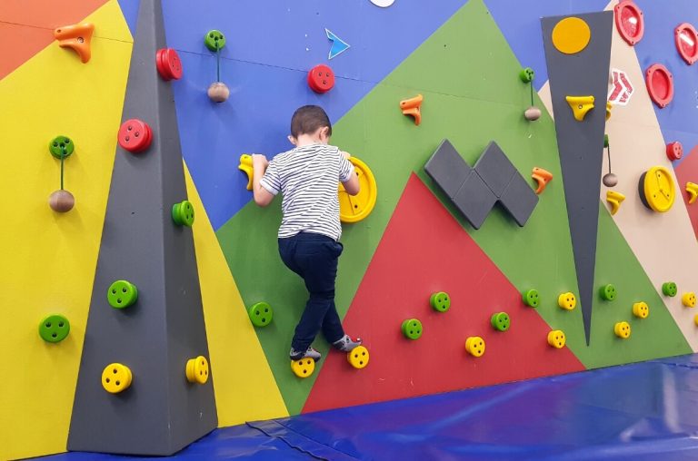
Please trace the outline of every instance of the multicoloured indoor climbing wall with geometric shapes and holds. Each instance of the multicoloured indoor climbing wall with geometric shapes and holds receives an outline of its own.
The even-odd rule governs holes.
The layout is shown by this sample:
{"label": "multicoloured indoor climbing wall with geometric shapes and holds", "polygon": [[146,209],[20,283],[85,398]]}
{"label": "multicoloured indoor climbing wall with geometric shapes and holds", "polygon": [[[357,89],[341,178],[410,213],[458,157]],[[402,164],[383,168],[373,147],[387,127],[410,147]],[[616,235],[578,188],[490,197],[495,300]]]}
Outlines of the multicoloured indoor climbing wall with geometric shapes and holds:
{"label": "multicoloured indoor climbing wall with geometric shapes and holds", "polygon": [[[0,345],[23,368],[0,458],[164,455],[698,350],[693,0],[29,3],[0,6]],[[362,184],[336,304],[365,348],[292,366],[306,292],[280,201],[247,186],[304,104]]]}

